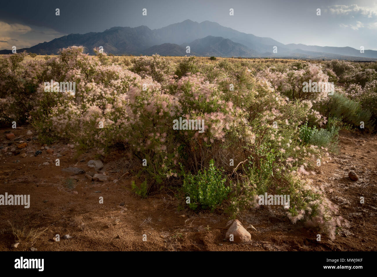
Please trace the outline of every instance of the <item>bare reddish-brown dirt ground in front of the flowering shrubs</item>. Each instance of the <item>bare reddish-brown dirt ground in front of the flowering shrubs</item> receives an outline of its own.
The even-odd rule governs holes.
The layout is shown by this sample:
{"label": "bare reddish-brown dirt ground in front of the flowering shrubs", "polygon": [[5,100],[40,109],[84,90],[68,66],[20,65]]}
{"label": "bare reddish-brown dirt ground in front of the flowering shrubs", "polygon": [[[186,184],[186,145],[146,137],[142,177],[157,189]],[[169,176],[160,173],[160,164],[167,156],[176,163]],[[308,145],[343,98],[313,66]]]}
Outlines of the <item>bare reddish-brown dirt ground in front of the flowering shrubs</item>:
{"label": "bare reddish-brown dirt ground in front of the flowering shrubs", "polygon": [[[154,192],[142,199],[130,190],[135,180],[135,159],[121,151],[114,151],[103,160],[104,170],[113,181],[89,181],[85,174],[70,175],[61,169],[87,167],[89,160],[96,160],[95,152],[78,155],[74,149],[61,142],[49,146],[53,154],[41,150],[34,135],[26,135],[30,126],[17,129],[1,129],[3,149],[0,149],[0,194],[30,195],[30,208],[23,206],[0,206],[0,250],[30,251],[374,251],[376,239],[376,184],[377,184],[377,136],[341,132],[340,151],[331,155],[332,160],[322,165],[320,174],[308,175],[314,186],[323,185],[326,196],[339,206],[339,215],[349,222],[349,227],[338,230],[335,240],[324,234],[316,240],[317,230],[292,224],[283,215],[282,207],[262,206],[238,217],[246,228],[252,224],[257,231],[248,228],[251,241],[234,244],[223,241],[228,215],[217,213],[193,213],[188,209],[179,211],[178,200],[170,190]],[[18,155],[8,155],[12,147],[5,135],[15,134],[15,141],[28,143]],[[31,139],[27,141],[28,139]],[[23,153],[29,153],[26,158]],[[60,166],[55,159],[60,154]],[[49,159],[48,159],[49,158]],[[17,160],[19,162],[17,162]],[[16,161],[16,162],[15,162]],[[49,162],[49,165],[43,163]],[[20,168],[21,167],[21,168]],[[348,178],[349,170],[359,176],[354,182]],[[130,175],[124,175],[129,171]],[[98,192],[100,191],[100,192]],[[76,194],[77,193],[77,194]],[[103,204],[99,197],[103,196]],[[360,204],[360,196],[365,204]],[[26,232],[44,230],[36,239],[21,239],[18,248],[12,248],[15,238],[11,224]],[[40,229],[41,228],[41,229]],[[55,234],[60,241],[52,240]],[[63,239],[65,234],[71,238]],[[143,234],[147,241],[143,241]]]}

